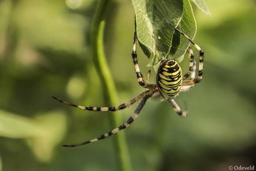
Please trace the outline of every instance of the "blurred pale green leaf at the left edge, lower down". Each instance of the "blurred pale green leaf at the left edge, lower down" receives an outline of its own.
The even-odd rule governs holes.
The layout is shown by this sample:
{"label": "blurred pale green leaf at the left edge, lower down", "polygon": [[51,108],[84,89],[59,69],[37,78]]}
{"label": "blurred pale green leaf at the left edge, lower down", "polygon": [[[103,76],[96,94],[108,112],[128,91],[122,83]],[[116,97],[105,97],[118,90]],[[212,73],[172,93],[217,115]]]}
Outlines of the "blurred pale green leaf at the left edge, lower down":
{"label": "blurred pale green leaf at the left edge, lower down", "polygon": [[0,110],[0,136],[26,139],[35,156],[47,162],[52,157],[54,147],[64,137],[66,120],[60,111],[41,113],[37,118],[30,119]]}

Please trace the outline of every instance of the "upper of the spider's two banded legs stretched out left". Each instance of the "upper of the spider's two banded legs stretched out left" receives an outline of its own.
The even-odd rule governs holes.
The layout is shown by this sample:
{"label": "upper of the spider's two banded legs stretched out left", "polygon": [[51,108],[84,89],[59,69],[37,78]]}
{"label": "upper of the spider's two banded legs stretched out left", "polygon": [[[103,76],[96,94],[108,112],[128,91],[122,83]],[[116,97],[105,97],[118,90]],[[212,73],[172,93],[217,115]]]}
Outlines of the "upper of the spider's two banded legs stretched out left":
{"label": "upper of the spider's two banded legs stretched out left", "polygon": [[73,103],[68,103],[67,101],[63,101],[58,99],[57,97],[52,96],[52,98],[54,98],[55,100],[60,101],[61,103],[67,104],[69,106],[73,106],[76,108],[80,108],[82,110],[90,110],[90,111],[118,111],[118,110],[122,110],[124,108],[127,108],[129,106],[131,106],[132,104],[136,103],[137,101],[139,101],[142,97],[144,97],[146,94],[149,94],[150,90],[146,90],[143,93],[139,94],[139,96],[134,97],[132,100],[130,100],[128,103],[123,103],[120,104],[117,107],[91,107],[91,106],[81,106],[78,104],[73,104]]}

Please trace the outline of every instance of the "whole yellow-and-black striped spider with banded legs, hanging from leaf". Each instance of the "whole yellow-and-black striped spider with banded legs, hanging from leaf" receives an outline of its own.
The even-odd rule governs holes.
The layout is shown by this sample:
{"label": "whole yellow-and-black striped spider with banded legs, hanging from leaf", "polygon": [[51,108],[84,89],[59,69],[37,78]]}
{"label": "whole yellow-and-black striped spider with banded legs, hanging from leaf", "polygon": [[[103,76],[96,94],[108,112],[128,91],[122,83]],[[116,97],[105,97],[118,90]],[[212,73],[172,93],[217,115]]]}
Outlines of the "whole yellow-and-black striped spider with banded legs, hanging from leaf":
{"label": "whole yellow-and-black striped spider with banded legs, hanging from leaf", "polygon": [[[194,41],[191,40],[191,38],[188,37],[188,35],[184,34],[179,29],[175,28],[176,31],[178,31],[180,34],[182,34],[188,41],[191,42],[191,44],[196,48],[196,50],[199,51],[199,65],[198,65],[198,76],[195,77],[196,73],[196,62],[195,57],[193,55],[193,51],[191,47],[188,48],[188,53],[190,56],[190,63],[189,63],[189,71],[185,75],[182,76],[182,70],[180,68],[179,63],[176,60],[166,60],[163,59],[160,61],[160,66],[157,71],[156,75],[156,84],[147,84],[146,80],[148,80],[150,76],[150,71],[147,75],[147,79],[143,77],[142,73],[140,73],[139,64],[137,62],[137,52],[136,52],[136,42],[137,42],[137,34],[136,31],[134,32],[134,38],[133,38],[133,48],[132,48],[132,58],[133,58],[133,64],[134,64],[134,70],[137,75],[137,81],[139,85],[146,88],[146,91],[139,94],[139,96],[134,97],[132,100],[130,100],[128,103],[120,104],[117,107],[86,107],[86,106],[80,106],[77,104],[68,103],[66,101],[60,100],[56,97],[55,100],[60,101],[61,103],[67,104],[69,106],[73,106],[76,108],[80,108],[82,110],[90,110],[90,111],[118,111],[123,110],[124,108],[127,108],[131,106],[132,104],[136,103],[140,100],[139,105],[134,110],[134,113],[132,116],[129,117],[129,119],[126,121],[126,123],[123,123],[119,127],[116,127],[115,129],[101,134],[101,136],[88,140],[86,142],[77,143],[77,144],[69,144],[69,145],[63,145],[64,147],[76,147],[76,146],[82,146],[84,144],[97,142],[99,140],[105,139],[113,134],[116,134],[120,130],[126,129],[130,126],[130,124],[133,123],[134,120],[137,119],[139,116],[140,111],[142,110],[143,106],[145,105],[146,101],[150,97],[163,97],[165,100],[168,100],[169,103],[172,105],[175,112],[181,116],[186,117],[186,114],[188,111],[182,111],[180,110],[180,107],[175,102],[174,98],[178,96],[179,92],[182,91],[188,91],[191,89],[196,83],[199,83],[202,80],[203,75],[203,64],[204,64],[204,51],[195,44]],[[188,77],[191,77],[190,80],[186,80]]]}

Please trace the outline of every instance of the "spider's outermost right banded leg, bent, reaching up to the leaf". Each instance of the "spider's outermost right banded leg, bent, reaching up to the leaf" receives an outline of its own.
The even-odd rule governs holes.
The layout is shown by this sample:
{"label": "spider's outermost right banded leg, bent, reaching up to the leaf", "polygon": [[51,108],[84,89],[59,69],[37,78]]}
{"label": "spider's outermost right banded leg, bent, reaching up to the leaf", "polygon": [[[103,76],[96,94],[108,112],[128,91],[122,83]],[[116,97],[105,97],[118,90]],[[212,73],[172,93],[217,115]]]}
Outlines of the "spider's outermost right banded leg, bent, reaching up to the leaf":
{"label": "spider's outermost right banded leg, bent, reaching up to the leaf", "polygon": [[187,40],[191,42],[191,44],[194,45],[196,50],[199,51],[199,65],[198,65],[198,77],[193,78],[191,80],[186,80],[182,82],[182,85],[192,85],[199,83],[202,80],[203,77],[203,66],[204,66],[204,51],[199,47],[199,45],[195,44],[194,41],[191,40],[191,38],[188,37],[188,35],[184,34],[182,31],[179,29],[175,28],[176,31],[180,32]]}

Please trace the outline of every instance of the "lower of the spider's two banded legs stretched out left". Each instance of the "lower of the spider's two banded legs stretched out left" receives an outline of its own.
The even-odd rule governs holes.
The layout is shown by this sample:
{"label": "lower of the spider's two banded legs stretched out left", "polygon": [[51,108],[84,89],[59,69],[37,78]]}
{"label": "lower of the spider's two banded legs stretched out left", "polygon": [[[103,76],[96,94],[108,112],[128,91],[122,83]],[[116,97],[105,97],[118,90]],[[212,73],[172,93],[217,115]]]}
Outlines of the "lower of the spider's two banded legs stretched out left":
{"label": "lower of the spider's two banded legs stretched out left", "polygon": [[146,96],[142,98],[142,101],[140,101],[139,106],[137,106],[136,110],[134,111],[133,115],[129,117],[129,119],[126,121],[126,123],[120,125],[119,127],[116,127],[115,129],[109,131],[108,133],[104,133],[101,134],[101,136],[95,138],[95,139],[91,139],[88,140],[86,142],[83,143],[78,143],[78,144],[70,144],[70,145],[63,145],[64,147],[77,147],[77,146],[82,146],[84,144],[88,144],[88,143],[93,143],[93,142],[97,142],[99,140],[102,139],[106,139],[107,137],[116,134],[117,132],[119,132],[120,130],[126,129],[127,127],[130,126],[130,124],[133,123],[134,120],[137,119],[137,117],[139,116],[140,111],[142,110],[143,106],[145,105],[147,98],[149,98],[150,96]]}

